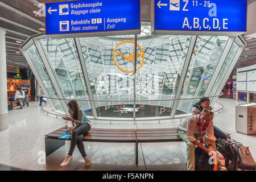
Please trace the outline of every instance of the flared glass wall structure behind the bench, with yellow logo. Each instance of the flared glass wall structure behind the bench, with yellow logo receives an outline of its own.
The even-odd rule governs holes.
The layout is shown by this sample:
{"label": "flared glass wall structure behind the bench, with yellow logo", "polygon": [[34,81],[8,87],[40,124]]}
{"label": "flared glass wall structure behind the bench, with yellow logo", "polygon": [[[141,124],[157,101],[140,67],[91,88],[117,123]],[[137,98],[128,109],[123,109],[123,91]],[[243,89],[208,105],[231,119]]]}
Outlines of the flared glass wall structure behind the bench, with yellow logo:
{"label": "flared glass wall structure behind the bench, with yellow logo", "polygon": [[[134,36],[76,39],[43,36],[34,40],[39,43],[32,43],[26,51],[40,75],[37,79],[43,80],[50,97],[94,100],[80,101],[82,109],[95,109],[94,117],[133,117],[135,54],[134,44],[127,40],[134,41]],[[136,117],[189,113],[198,101],[193,98],[220,94],[217,88],[226,71],[233,69],[229,65],[239,46],[228,36],[196,36],[195,40],[192,44],[192,36],[150,35],[150,28],[142,26],[137,40],[137,68],[141,68],[135,82]],[[229,53],[224,56],[226,51]],[[41,54],[46,57],[43,61]],[[46,63],[51,69],[44,67]],[[188,67],[184,68],[186,64]],[[220,64],[221,69],[217,70]],[[57,85],[52,84],[48,72]],[[212,80],[214,74],[218,75],[216,80]],[[208,88],[211,81],[214,84]],[[56,87],[60,93],[56,93]],[[177,96],[191,99],[179,100],[175,107],[174,101],[162,101]],[[57,110],[65,110],[60,101],[53,100],[53,104]]]}

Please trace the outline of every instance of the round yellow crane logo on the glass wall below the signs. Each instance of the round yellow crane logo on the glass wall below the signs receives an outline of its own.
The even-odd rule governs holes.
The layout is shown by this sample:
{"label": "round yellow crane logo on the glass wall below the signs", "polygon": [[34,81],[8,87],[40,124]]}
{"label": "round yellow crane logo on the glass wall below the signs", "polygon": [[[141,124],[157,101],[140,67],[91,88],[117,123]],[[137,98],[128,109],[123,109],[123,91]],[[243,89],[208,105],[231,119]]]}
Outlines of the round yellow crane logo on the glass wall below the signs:
{"label": "round yellow crane logo on the glass wall below the signs", "polygon": [[[116,60],[116,57],[115,57],[115,56],[118,56],[118,55],[119,55],[119,56],[118,56],[117,58],[120,57],[120,59],[118,59],[118,63],[119,63],[121,60],[127,61],[127,63],[125,63],[125,65],[127,65],[129,62],[130,62],[130,63],[134,63],[134,62],[133,62],[133,61],[134,61],[134,52],[132,52],[132,53],[130,53],[130,54],[129,54],[129,52],[128,52],[129,55],[126,55],[126,53],[125,53],[125,55],[124,55],[123,53],[121,53],[121,49],[125,49],[125,52],[127,52],[127,51],[126,51],[127,49],[126,49],[125,47],[122,47],[122,48],[119,48],[119,49],[118,49],[118,47],[119,47],[121,44],[123,44],[123,43],[132,43],[133,45],[135,44],[135,42],[134,42],[133,40],[123,40],[122,42],[118,43],[117,46],[115,46],[115,49],[114,49],[114,52],[113,52],[114,63],[115,63],[115,65],[117,66],[117,68],[120,69],[121,71],[126,72],[126,73],[133,73],[134,70],[133,70],[133,71],[126,71],[125,69],[122,69],[122,68],[117,64],[117,60]],[[136,57],[137,57],[137,59],[138,59],[139,57],[141,57],[141,64],[140,64],[139,67],[136,69],[136,71],[138,71],[139,69],[141,69],[141,67],[142,67],[142,65],[143,65],[143,63],[144,63],[144,52],[143,52],[141,46],[139,46],[139,44],[137,44],[137,47],[139,47],[139,49],[141,50],[141,53],[137,53]],[[117,49],[118,49],[118,51],[117,51]],[[134,51],[134,49],[133,49],[133,51]],[[139,61],[137,61],[137,63],[139,63]]]}

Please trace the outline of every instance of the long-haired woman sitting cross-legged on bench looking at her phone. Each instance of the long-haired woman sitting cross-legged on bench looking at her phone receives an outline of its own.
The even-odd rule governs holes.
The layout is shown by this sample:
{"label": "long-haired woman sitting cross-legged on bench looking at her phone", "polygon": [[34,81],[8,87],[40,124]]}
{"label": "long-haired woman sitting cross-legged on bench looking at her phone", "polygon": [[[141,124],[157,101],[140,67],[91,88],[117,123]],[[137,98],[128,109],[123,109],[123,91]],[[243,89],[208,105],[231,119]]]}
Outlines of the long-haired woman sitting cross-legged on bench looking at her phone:
{"label": "long-haired woman sitting cross-legged on bench looking at her phone", "polygon": [[76,100],[71,100],[68,102],[68,111],[71,115],[70,117],[64,118],[67,121],[72,122],[72,126],[75,127],[72,134],[71,139],[71,145],[68,152],[67,157],[63,161],[63,163],[60,164],[61,167],[67,166],[68,163],[72,160],[72,154],[73,151],[77,145],[77,148],[79,149],[82,158],[84,158],[85,164],[87,167],[90,166],[90,161],[86,156],[84,143],[82,143],[82,138],[84,138],[84,134],[88,133],[90,131],[90,128],[92,125],[90,125],[90,119],[88,119],[84,113],[84,111],[79,107],[79,104]]}

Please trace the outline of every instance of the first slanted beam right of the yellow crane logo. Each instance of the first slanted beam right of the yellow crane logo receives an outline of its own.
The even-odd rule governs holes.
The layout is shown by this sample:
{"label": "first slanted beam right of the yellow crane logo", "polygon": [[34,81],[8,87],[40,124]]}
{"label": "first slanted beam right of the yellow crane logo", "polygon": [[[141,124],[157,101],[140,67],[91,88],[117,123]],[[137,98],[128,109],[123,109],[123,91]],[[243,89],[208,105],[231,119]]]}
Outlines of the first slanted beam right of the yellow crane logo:
{"label": "first slanted beam right of the yellow crane logo", "polygon": [[[185,57],[183,69],[182,69],[182,72],[180,75],[179,85],[177,86],[177,92],[175,94],[175,99],[180,98],[181,90],[183,89],[184,81],[185,81],[185,78],[186,78],[187,72],[188,72],[188,67],[191,62],[191,57],[193,55],[193,50],[196,45],[196,40],[197,40],[197,36],[195,36],[195,35],[191,36],[191,40],[190,40],[189,46],[188,46],[187,56]],[[173,118],[175,116],[178,104],[179,104],[179,100],[175,100],[174,104],[171,107],[171,118]]]}

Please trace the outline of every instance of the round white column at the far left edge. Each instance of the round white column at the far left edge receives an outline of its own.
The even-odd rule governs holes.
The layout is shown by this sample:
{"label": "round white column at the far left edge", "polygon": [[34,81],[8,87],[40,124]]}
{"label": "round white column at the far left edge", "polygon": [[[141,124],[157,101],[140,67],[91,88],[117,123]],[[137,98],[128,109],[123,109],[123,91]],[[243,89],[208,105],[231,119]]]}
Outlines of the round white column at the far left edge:
{"label": "round white column at the far left edge", "polygon": [[5,49],[6,31],[0,29],[0,131],[9,127],[8,101],[7,101],[7,73],[6,73],[6,49]]}

